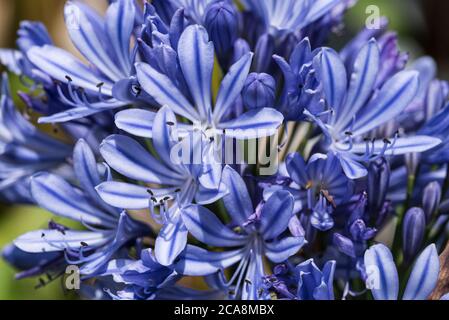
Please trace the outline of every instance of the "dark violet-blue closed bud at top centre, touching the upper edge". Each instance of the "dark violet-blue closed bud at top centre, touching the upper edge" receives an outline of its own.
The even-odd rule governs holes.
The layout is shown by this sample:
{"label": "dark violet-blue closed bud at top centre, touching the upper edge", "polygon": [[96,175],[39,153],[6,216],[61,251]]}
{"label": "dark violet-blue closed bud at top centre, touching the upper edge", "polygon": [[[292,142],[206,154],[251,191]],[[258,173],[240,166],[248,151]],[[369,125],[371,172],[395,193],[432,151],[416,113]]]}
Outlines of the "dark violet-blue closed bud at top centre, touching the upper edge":
{"label": "dark violet-blue closed bud at top centre, touching the upper edge", "polygon": [[219,57],[232,48],[238,35],[238,13],[228,1],[211,4],[206,12],[205,26]]}

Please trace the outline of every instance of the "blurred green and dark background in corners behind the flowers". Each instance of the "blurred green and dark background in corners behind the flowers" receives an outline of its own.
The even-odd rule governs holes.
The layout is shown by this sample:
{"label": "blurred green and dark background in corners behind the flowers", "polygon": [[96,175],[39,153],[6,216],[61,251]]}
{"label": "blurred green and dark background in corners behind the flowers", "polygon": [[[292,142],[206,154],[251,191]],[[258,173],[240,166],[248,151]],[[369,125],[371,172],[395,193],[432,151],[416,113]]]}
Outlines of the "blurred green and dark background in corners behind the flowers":
{"label": "blurred green and dark background in corners behind the flowers", "polygon": [[[104,10],[106,0],[85,1]],[[57,45],[76,53],[64,27],[64,0],[0,0],[0,47],[14,47],[15,33],[21,20],[43,21]],[[347,34],[354,35],[364,25],[368,5],[377,5],[400,36],[401,48],[412,57],[433,56],[441,76],[449,74],[449,1],[445,0],[360,0],[347,15]],[[345,36],[346,37],[346,36]],[[447,77],[444,77],[447,78]],[[20,234],[47,225],[51,215],[30,206],[0,204],[0,248]],[[35,289],[37,279],[14,279],[15,271],[0,260],[0,300],[66,299],[60,281]]]}

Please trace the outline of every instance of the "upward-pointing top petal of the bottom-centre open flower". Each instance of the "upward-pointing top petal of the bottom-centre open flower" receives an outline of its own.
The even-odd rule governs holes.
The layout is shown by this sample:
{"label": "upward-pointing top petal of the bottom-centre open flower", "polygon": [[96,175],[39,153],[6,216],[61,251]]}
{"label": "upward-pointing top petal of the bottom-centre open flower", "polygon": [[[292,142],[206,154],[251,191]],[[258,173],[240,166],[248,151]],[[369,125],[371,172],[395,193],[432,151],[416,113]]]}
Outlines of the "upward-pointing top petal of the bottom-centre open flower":
{"label": "upward-pointing top petal of the bottom-centre open flower", "polygon": [[222,181],[229,189],[229,193],[223,197],[223,204],[232,222],[242,226],[254,213],[246,184],[242,177],[229,166],[223,170]]}

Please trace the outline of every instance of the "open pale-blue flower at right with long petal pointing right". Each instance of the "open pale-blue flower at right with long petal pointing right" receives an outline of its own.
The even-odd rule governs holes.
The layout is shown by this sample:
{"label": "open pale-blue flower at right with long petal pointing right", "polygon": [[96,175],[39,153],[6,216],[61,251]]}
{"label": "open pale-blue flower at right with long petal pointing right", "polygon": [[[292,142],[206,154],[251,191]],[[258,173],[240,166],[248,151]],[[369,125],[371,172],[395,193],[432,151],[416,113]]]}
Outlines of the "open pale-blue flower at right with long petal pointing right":
{"label": "open pale-blue flower at right with long petal pointing right", "polygon": [[332,49],[324,48],[315,62],[319,65],[316,69],[328,113],[313,115],[306,110],[305,114],[321,128],[327,148],[335,152],[349,178],[366,176],[364,163],[379,157],[419,153],[441,143],[440,139],[426,135],[399,137],[396,134],[383,140],[370,136],[374,129],[397,117],[413,101],[419,85],[417,72],[401,71],[376,90],[382,61],[374,39],[359,52],[350,76]]}

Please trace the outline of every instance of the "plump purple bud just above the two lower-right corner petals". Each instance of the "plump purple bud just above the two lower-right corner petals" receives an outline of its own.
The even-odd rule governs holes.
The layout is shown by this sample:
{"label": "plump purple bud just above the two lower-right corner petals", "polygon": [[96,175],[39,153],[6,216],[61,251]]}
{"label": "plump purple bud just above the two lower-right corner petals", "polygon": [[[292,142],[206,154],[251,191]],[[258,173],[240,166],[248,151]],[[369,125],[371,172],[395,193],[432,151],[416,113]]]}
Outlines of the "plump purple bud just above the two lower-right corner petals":
{"label": "plump purple bud just above the two lower-right corner petals", "polygon": [[421,248],[426,230],[426,217],[421,208],[409,209],[402,226],[402,249],[406,262],[413,260]]}

